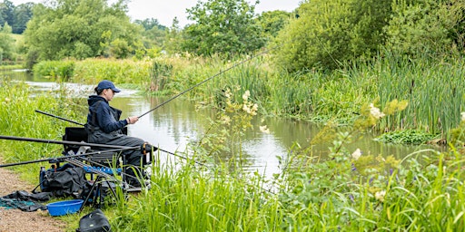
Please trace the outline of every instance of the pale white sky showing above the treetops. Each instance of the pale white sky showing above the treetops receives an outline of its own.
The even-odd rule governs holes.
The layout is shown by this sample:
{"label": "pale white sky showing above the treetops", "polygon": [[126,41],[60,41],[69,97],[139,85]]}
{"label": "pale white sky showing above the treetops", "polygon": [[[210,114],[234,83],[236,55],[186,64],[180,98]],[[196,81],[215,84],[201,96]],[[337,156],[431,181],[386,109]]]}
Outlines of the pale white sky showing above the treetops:
{"label": "pale white sky showing above the treetops", "polygon": [[[14,5],[21,5],[28,2],[43,3],[44,0],[10,0]],[[173,1],[173,2],[172,2]],[[177,16],[181,26],[189,24],[185,9],[192,8],[198,0],[130,0],[128,15],[132,20],[155,18],[160,24],[171,26],[173,18]],[[114,3],[115,0],[108,0],[108,3]],[[167,3],[169,2],[169,4]],[[301,0],[262,0],[255,7],[255,13],[263,11],[282,10],[292,12],[299,6]]]}

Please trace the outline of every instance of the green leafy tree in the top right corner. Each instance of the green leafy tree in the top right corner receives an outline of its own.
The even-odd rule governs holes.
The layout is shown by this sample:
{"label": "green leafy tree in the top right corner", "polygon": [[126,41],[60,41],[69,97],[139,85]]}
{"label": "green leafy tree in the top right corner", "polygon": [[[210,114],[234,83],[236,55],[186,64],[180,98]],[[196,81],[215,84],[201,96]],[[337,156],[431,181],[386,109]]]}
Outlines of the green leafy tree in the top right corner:
{"label": "green leafy tree in the top right corner", "polygon": [[463,22],[463,9],[463,3],[455,0],[393,1],[386,46],[393,53],[417,57],[451,53],[462,46],[464,32],[456,28]]}

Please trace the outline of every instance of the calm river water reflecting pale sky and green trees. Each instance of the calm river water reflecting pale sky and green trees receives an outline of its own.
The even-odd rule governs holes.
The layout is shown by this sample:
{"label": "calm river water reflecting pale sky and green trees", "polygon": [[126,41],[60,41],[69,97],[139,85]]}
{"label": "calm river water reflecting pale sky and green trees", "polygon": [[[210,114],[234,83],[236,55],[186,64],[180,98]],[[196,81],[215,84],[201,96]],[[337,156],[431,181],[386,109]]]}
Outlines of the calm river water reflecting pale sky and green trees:
{"label": "calm river water reflecting pale sky and green trees", "polygon": [[[35,78],[25,72],[9,72],[4,73],[4,75],[11,76],[18,81],[25,81],[39,92],[59,88],[53,80]],[[93,94],[94,86],[76,83],[66,83],[66,85],[69,89],[75,91],[77,97],[87,97]],[[141,96],[133,90],[122,89],[122,92],[117,93],[110,104],[117,109],[123,110],[123,117],[127,117],[142,115],[165,100],[166,98]],[[47,111],[47,109],[37,110]],[[171,152],[176,150],[184,151],[189,141],[198,140],[203,136],[205,128],[208,127],[208,119],[213,116],[214,112],[211,109],[199,110],[196,109],[194,102],[178,98],[164,104],[163,107],[156,111],[144,115],[134,125],[130,125],[128,134],[147,140],[163,150]],[[85,122],[84,116],[81,122]],[[313,136],[321,130],[320,126],[307,121],[257,116],[252,122],[255,130],[248,131],[242,138],[242,158],[247,160],[247,169],[256,170],[266,177],[281,172],[278,156],[285,157],[288,150],[296,142],[303,148],[308,147]],[[260,131],[258,129],[260,125],[267,125],[270,133]],[[434,147],[426,145],[384,144],[372,139],[373,135],[367,134],[362,140],[348,144],[346,148],[350,152],[360,149],[362,154],[381,155],[383,157],[393,155],[398,159],[417,150],[434,149]],[[324,157],[329,153],[328,146],[331,145],[313,146],[312,154]],[[164,158],[170,158],[170,155],[163,154],[161,159]]]}

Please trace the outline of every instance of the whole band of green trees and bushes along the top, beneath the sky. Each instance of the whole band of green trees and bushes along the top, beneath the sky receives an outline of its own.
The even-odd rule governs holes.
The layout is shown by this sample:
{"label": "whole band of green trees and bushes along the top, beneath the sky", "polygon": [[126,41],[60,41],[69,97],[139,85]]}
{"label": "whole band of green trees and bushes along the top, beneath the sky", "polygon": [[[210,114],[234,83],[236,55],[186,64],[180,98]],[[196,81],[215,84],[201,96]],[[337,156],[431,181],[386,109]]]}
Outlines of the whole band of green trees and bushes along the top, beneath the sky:
{"label": "whole band of green trees and bushes along the top, beneath the sky", "polygon": [[274,62],[296,72],[332,70],[382,53],[431,58],[463,53],[462,0],[304,0],[292,13],[255,14],[258,3],[199,1],[187,9],[193,24],[181,28],[176,18],[171,26],[154,18],[130,22],[124,0],[113,5],[50,0],[17,7],[5,0],[0,23],[10,24],[13,33],[24,32],[30,64],[161,53],[232,57],[272,47]]}

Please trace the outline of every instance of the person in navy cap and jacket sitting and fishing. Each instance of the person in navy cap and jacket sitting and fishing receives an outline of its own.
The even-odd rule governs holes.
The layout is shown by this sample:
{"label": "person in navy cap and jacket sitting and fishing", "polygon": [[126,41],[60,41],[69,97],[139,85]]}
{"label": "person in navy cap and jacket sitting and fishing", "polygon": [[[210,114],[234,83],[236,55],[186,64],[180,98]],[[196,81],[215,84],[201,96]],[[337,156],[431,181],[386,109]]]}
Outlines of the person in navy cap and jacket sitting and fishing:
{"label": "person in navy cap and jacket sitting and fishing", "polygon": [[[85,129],[88,133],[88,142],[127,147],[140,147],[141,150],[123,150],[125,157],[124,169],[127,174],[125,181],[133,187],[141,187],[139,179],[146,178],[144,165],[152,160],[151,152],[156,150],[148,142],[127,136],[123,131],[129,124],[139,121],[137,116],[120,120],[122,111],[110,106],[109,102],[116,92],[121,92],[113,82],[104,80],[99,82],[94,89],[95,95],[89,96],[89,112]],[[144,157],[148,155],[149,158]]]}

